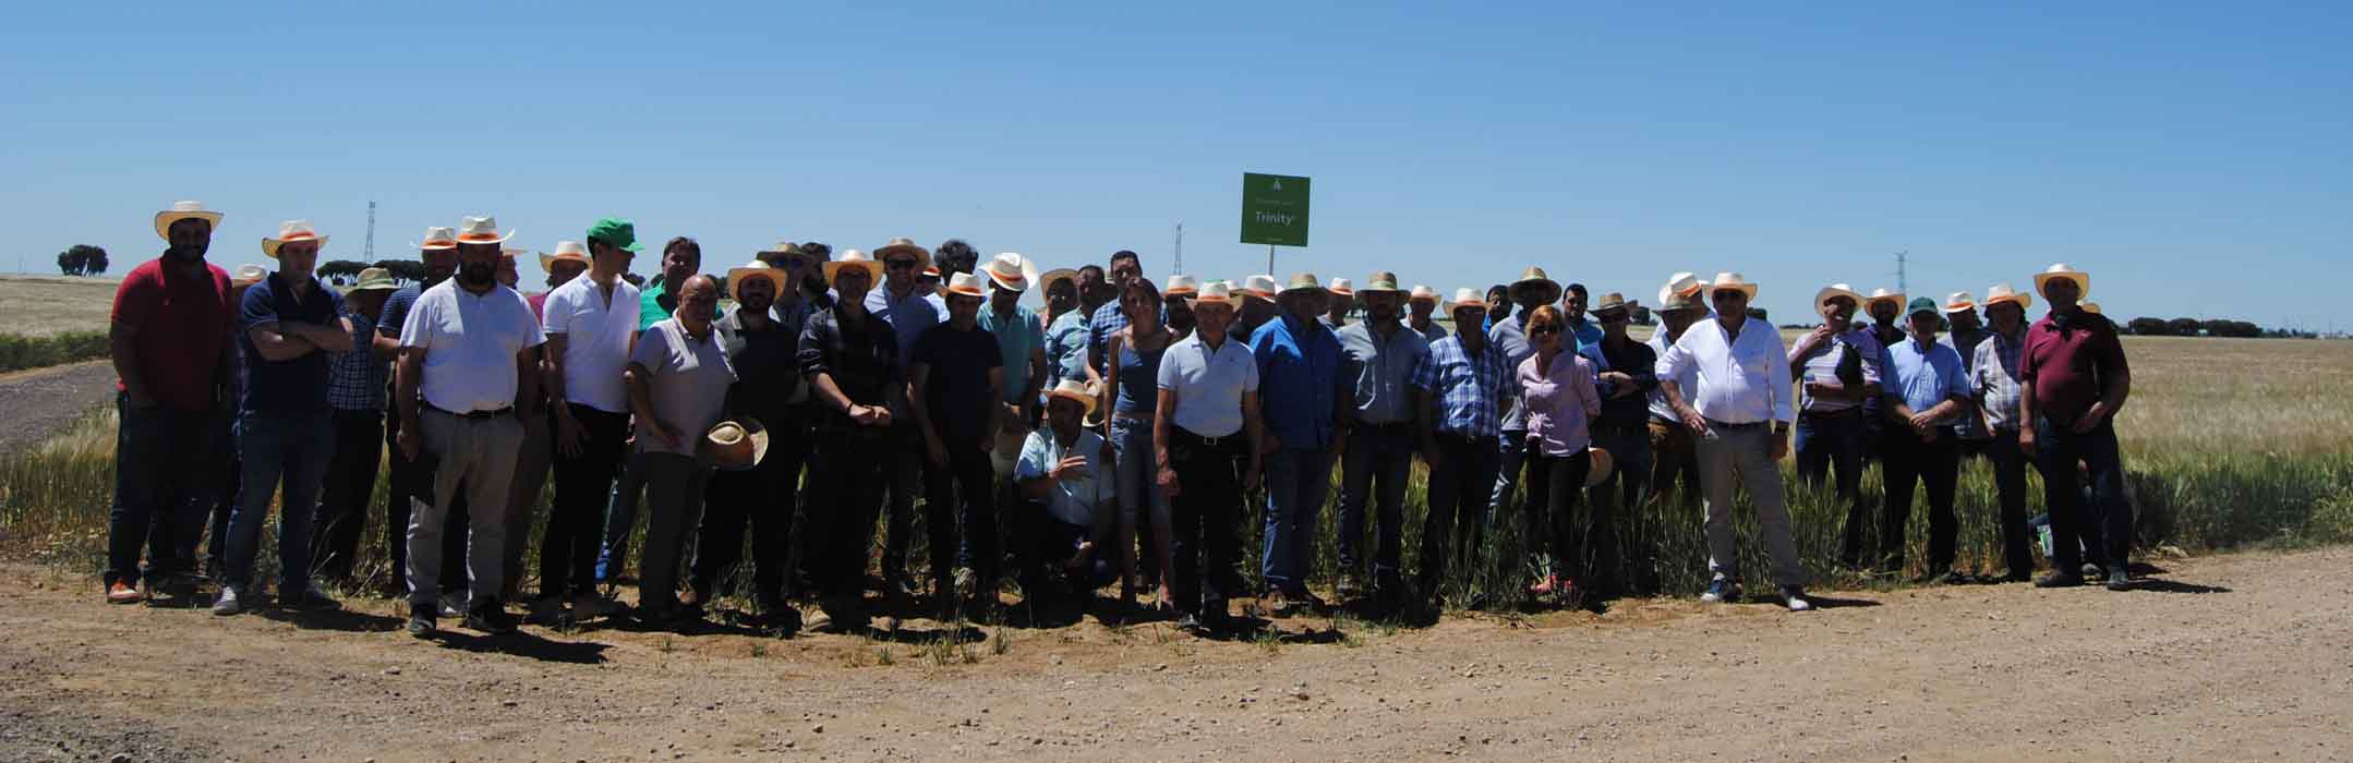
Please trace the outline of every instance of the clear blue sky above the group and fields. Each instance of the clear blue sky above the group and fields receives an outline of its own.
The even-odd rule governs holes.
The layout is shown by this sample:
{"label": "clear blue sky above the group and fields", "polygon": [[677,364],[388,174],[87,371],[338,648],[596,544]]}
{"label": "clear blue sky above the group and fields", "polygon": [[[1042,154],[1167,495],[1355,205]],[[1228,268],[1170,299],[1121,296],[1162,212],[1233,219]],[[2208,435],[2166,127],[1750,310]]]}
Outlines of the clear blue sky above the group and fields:
{"label": "clear blue sky above the group and fields", "polygon": [[1649,301],[1744,271],[1781,323],[1908,250],[1915,294],[2071,261],[2113,316],[2325,330],[2353,259],[2344,2],[38,2],[0,35],[35,271],[75,243],[127,268],[202,198],[224,266],[289,217],[358,259],[376,200],[379,257],[459,214],[532,250],[621,214],[708,271],[960,235],[1162,278],[1184,221],[1186,268],[1240,278],[1245,170],[1315,179],[1285,273],[1541,264]]}

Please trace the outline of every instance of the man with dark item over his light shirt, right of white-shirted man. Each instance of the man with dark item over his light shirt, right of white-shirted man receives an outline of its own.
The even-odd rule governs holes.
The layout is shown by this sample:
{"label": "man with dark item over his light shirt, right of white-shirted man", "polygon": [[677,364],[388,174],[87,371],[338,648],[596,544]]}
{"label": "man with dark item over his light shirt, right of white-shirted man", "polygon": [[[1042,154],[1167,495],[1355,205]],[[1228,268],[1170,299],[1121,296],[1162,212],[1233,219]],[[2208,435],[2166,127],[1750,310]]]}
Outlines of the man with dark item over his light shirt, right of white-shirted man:
{"label": "man with dark item over his light shirt, right of white-shirted man", "polygon": [[1864,405],[1880,391],[1880,339],[1868,327],[1854,327],[1864,294],[1845,283],[1814,292],[1821,325],[1788,349],[1788,372],[1798,377],[1798,478],[1807,490],[1821,490],[1838,471],[1838,502],[1847,504],[1847,570],[1864,568],[1864,450],[1871,445]]}

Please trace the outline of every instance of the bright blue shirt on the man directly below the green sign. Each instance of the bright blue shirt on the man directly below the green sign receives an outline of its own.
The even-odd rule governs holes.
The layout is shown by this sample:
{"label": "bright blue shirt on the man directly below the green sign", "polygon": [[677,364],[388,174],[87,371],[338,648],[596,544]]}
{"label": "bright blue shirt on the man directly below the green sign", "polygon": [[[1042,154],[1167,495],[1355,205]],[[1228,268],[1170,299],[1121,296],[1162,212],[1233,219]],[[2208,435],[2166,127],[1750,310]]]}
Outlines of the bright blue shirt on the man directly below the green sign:
{"label": "bright blue shirt on the man directly below the green sign", "polygon": [[1282,447],[1329,447],[1341,389],[1332,330],[1285,313],[1249,334],[1249,358],[1259,363],[1259,417]]}

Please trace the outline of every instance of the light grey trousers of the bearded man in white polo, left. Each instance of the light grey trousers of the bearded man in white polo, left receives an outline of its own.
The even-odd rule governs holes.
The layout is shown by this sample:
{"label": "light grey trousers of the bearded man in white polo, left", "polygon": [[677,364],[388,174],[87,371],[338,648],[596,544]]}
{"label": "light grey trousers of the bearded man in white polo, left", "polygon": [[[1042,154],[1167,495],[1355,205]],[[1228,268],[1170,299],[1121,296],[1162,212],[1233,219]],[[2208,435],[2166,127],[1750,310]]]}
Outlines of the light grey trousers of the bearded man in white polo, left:
{"label": "light grey trousers of the bearded man in white polo, left", "polygon": [[[440,410],[416,414],[419,452],[433,455],[433,502],[421,497],[409,509],[409,605],[438,608],[442,565],[445,506],[466,487],[466,506],[482,506],[473,513],[466,539],[466,572],[473,579],[473,601],[496,601],[506,586],[506,492],[515,473],[515,452],[522,450],[522,422],[515,417],[466,419]],[[485,511],[487,509],[487,511]]]}

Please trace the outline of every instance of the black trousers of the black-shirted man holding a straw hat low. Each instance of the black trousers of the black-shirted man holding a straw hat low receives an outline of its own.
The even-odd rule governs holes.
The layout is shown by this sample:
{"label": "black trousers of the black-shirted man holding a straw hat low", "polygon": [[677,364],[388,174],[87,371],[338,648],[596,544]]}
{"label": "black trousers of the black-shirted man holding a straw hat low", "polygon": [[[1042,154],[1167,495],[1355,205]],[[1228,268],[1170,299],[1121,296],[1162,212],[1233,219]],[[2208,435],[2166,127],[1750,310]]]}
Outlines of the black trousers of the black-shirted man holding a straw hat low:
{"label": "black trousers of the black-shirted man holding a straw hat low", "polygon": [[713,471],[704,487],[704,528],[694,542],[687,577],[696,601],[722,596],[720,586],[744,560],[751,525],[751,584],[760,608],[784,603],[786,565],[793,556],[793,513],[800,511],[800,469],[809,462],[809,436],[769,429],[767,457],[746,471]]}

